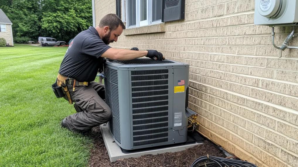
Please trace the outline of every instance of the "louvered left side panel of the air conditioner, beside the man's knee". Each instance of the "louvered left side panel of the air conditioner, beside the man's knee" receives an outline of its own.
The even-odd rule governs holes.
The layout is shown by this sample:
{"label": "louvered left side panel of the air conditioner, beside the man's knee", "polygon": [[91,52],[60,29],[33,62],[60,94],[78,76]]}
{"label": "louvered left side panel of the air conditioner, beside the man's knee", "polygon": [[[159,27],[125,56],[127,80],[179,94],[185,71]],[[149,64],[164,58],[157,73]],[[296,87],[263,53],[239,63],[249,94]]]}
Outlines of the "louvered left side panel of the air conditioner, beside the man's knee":
{"label": "louvered left side panel of the air conditioner, beside the man's knee", "polygon": [[118,72],[105,68],[105,102],[112,110],[113,119],[110,120],[110,129],[116,140],[121,144],[119,97],[118,97]]}

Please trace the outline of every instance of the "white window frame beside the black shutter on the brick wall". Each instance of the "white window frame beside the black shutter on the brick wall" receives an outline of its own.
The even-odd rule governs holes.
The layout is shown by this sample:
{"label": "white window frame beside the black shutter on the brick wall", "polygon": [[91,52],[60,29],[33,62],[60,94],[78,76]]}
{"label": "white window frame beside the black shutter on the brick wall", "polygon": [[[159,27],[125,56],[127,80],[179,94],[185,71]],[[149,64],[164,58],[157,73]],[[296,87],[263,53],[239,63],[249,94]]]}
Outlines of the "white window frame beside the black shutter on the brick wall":
{"label": "white window frame beside the black shutter on the brick wall", "polygon": [[147,20],[140,21],[140,0],[136,0],[136,25],[129,26],[129,19],[128,19],[128,0],[125,0],[125,13],[126,13],[126,25],[128,28],[134,28],[134,27],[142,27],[147,26],[151,24],[159,24],[162,23],[162,20],[152,21],[152,0],[147,0]]}

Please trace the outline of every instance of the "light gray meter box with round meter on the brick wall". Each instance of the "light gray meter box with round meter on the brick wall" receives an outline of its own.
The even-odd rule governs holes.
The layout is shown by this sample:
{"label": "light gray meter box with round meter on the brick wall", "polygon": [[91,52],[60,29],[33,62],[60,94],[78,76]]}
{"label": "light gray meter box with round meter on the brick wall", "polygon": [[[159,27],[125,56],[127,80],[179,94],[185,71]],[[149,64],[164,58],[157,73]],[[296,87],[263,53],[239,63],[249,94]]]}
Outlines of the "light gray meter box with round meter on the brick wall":
{"label": "light gray meter box with round meter on the brick wall", "polygon": [[255,0],[254,24],[286,26],[297,22],[298,0]]}

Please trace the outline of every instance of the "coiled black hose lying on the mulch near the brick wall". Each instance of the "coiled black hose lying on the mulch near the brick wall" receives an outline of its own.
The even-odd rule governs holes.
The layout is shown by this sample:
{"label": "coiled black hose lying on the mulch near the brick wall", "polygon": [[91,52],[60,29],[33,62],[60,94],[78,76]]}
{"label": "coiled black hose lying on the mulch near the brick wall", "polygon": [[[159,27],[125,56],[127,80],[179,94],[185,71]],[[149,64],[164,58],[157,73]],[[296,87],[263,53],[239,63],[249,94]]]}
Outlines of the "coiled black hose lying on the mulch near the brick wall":
{"label": "coiled black hose lying on the mulch near the brick wall", "polygon": [[203,156],[196,159],[190,167],[257,167],[256,165],[242,161],[222,157]]}

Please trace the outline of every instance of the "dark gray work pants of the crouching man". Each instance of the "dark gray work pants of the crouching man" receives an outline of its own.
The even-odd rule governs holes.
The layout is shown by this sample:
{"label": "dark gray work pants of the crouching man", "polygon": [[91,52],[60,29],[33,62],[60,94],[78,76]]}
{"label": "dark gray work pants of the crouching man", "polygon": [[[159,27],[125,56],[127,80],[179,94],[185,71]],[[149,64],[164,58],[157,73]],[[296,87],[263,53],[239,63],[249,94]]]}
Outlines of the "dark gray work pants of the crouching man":
{"label": "dark gray work pants of the crouching man", "polygon": [[111,109],[103,100],[105,99],[103,84],[93,81],[88,86],[75,87],[74,92],[72,86],[68,86],[68,88],[72,101],[83,110],[66,117],[66,123],[70,130],[83,132],[111,119]]}

